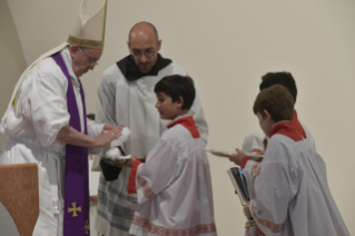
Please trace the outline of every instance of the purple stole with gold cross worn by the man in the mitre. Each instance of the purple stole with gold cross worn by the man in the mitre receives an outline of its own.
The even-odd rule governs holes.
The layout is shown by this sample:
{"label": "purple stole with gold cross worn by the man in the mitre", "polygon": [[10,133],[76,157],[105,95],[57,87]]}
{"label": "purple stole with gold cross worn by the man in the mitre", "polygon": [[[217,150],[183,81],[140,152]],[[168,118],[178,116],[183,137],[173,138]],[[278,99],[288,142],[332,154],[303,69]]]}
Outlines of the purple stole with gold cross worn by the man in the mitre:
{"label": "purple stole with gold cross worn by the man in the mitre", "polygon": [[[68,68],[60,55],[51,56],[68,79],[67,106],[70,115],[69,125],[81,130],[80,115],[77,99],[69,76]],[[80,95],[83,107],[85,134],[88,134],[85,95],[80,83]],[[66,145],[66,179],[65,179],[65,236],[90,235],[89,226],[89,173],[88,173],[88,148],[73,145]]]}

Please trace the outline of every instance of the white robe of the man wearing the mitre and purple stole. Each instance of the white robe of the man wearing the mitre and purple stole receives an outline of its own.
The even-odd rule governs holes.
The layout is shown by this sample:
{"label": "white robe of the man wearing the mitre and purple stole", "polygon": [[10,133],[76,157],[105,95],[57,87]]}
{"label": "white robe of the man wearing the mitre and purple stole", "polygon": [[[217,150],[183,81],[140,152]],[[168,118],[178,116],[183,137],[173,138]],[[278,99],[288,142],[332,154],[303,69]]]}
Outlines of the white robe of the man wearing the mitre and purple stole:
{"label": "white robe of the man wearing the mitre and purple stole", "polygon": [[[83,109],[80,85],[71,66],[69,49],[61,50],[73,86],[83,132]],[[17,107],[11,101],[20,86]],[[0,131],[7,135],[1,148],[0,165],[36,163],[39,177],[40,215],[33,236],[62,235],[63,180],[66,146],[56,140],[59,130],[69,125],[67,108],[68,80],[52,58],[38,62],[18,81]],[[100,135],[103,125],[88,122],[90,136]]]}

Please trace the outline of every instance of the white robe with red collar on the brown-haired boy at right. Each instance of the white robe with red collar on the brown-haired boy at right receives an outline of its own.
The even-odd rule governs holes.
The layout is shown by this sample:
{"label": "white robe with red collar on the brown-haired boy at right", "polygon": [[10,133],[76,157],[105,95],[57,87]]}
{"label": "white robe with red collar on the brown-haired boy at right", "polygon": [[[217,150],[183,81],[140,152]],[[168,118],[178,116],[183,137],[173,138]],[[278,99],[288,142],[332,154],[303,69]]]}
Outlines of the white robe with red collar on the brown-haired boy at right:
{"label": "white robe with red collar on the brown-haired boy at right", "polygon": [[270,131],[264,160],[245,166],[250,213],[263,235],[349,235],[312,142],[283,121]]}

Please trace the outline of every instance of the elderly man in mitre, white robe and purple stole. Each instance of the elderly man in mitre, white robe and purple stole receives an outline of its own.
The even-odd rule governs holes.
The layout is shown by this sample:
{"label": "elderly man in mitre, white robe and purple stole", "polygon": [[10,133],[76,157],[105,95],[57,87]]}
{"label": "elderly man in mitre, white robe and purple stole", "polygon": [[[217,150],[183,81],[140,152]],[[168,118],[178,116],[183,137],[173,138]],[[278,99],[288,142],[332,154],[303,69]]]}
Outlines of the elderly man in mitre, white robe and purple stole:
{"label": "elderly man in mitre, white robe and purple stole", "polygon": [[121,128],[87,122],[80,77],[103,49],[107,1],[91,18],[86,0],[67,42],[42,55],[19,79],[0,131],[0,165],[36,163],[40,214],[33,236],[89,234],[88,148]]}

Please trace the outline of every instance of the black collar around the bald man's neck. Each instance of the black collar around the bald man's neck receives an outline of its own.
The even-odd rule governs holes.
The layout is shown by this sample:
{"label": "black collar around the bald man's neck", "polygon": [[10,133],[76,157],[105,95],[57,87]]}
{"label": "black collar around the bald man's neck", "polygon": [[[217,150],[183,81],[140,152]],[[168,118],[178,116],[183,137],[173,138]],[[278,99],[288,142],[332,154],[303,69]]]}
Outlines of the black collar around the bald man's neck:
{"label": "black collar around the bald man's neck", "polygon": [[170,59],[162,58],[158,53],[157,62],[149,72],[141,72],[135,62],[131,55],[127,56],[122,60],[117,62],[118,68],[128,81],[138,80],[145,76],[158,76],[158,72],[169,66],[172,61]]}

